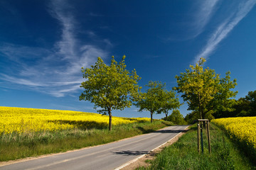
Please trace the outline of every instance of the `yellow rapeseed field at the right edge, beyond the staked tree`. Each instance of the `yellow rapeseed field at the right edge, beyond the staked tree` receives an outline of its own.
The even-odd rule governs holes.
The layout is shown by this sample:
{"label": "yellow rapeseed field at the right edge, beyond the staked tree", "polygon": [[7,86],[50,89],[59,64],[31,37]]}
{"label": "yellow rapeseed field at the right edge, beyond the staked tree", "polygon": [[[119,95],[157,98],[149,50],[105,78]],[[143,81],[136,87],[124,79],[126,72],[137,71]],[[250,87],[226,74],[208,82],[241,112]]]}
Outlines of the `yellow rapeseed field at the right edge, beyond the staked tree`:
{"label": "yellow rapeseed field at the right edge, beyond the staked tree", "polygon": [[245,142],[256,151],[256,117],[220,118],[212,122],[225,128],[231,138]]}

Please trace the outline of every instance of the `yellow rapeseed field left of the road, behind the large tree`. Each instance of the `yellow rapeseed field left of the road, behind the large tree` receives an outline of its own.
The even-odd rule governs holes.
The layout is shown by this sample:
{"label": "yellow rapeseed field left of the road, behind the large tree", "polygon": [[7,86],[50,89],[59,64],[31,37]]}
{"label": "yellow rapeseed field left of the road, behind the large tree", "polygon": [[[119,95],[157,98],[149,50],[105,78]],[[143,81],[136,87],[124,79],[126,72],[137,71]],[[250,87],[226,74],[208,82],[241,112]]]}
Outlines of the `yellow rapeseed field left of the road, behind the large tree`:
{"label": "yellow rapeseed field left of the road, behind the large tree", "polygon": [[[150,121],[150,119],[113,117],[112,125],[142,121]],[[103,128],[107,127],[108,122],[108,115],[97,113],[0,106],[0,135],[12,132],[21,134],[45,130]]]}

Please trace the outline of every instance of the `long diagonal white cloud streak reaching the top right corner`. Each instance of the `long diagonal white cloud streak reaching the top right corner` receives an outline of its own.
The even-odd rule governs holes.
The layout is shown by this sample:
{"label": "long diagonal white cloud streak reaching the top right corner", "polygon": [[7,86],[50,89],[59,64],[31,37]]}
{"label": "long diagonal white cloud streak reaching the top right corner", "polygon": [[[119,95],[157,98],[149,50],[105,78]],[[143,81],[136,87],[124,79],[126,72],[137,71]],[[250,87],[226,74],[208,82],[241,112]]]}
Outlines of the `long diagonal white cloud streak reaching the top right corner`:
{"label": "long diagonal white cloud streak reaching the top right corner", "polygon": [[201,57],[209,57],[214,50],[218,47],[218,44],[228,36],[228,33],[238,25],[238,23],[249,13],[255,6],[255,0],[242,1],[236,11],[234,11],[228,19],[220,23],[218,28],[208,39],[208,42],[203,50],[195,57],[194,63],[196,63]]}

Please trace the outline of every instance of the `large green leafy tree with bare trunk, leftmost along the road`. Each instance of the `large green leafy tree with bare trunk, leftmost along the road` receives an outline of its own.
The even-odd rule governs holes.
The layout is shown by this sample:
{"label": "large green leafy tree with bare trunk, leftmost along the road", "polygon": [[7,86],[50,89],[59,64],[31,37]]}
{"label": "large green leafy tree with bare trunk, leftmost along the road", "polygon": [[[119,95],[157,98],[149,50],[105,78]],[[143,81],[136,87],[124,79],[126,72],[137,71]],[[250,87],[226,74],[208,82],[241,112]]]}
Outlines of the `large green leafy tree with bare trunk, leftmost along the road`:
{"label": "large green leafy tree with bare trunk, leftmost along the road", "polygon": [[95,65],[91,68],[82,68],[83,78],[80,87],[85,91],[80,95],[80,101],[91,101],[95,104],[95,109],[102,114],[108,114],[110,117],[109,130],[112,130],[112,110],[123,110],[132,106],[132,97],[139,95],[139,79],[141,79],[135,69],[130,73],[127,71],[122,61],[117,63],[112,56],[110,66],[107,66],[103,60],[98,57]]}

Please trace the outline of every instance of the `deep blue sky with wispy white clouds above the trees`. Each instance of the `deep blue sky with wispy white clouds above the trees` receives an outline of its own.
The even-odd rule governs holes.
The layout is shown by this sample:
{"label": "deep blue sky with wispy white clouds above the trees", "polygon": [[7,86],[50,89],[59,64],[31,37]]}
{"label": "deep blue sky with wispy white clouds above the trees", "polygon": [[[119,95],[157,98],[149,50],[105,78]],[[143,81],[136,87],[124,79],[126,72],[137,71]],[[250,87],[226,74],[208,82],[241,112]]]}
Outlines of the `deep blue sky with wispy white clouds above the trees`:
{"label": "deep blue sky with wispy white clouds above the trees", "polygon": [[[238,80],[236,98],[256,90],[256,1],[0,1],[0,106],[96,112],[79,101],[81,67],[126,55],[127,69],[176,86],[205,67]],[[145,87],[144,87],[145,89]],[[183,102],[182,98],[180,101]],[[186,115],[188,106],[181,106]],[[149,117],[137,108],[114,111]],[[154,115],[163,118],[164,114]]]}

